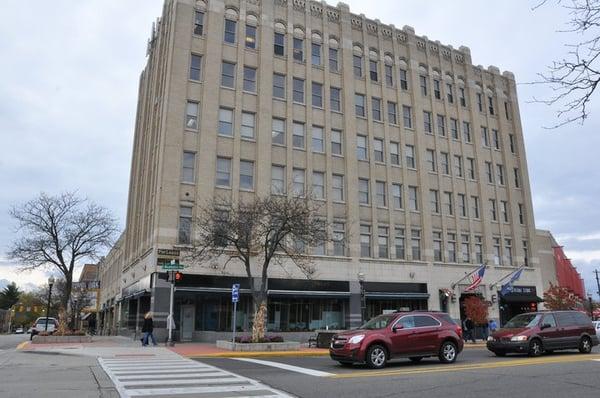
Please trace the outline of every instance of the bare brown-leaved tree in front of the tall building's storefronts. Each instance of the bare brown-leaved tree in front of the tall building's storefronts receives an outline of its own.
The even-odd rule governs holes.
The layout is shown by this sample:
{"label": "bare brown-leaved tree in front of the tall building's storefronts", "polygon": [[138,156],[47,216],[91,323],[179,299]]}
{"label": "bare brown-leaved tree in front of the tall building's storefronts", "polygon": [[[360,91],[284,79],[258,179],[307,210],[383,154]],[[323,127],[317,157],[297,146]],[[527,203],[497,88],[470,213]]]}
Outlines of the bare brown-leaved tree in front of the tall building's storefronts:
{"label": "bare brown-leaved tree in front of the tall building's storefronts", "polygon": [[254,304],[255,342],[265,335],[269,266],[291,262],[310,278],[315,270],[306,251],[329,240],[328,224],[318,207],[300,197],[238,203],[215,199],[199,210],[194,226],[192,260],[210,265],[221,259],[223,270],[231,261],[243,264]]}

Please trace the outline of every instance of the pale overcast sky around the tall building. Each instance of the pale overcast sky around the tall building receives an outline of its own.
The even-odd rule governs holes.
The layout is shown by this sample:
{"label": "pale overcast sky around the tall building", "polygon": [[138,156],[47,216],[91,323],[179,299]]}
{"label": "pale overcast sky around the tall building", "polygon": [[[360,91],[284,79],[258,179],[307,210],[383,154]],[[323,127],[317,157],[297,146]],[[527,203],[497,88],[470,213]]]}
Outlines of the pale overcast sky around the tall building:
{"label": "pale overcast sky around the tall building", "polygon": [[[268,0],[263,0],[268,1]],[[567,14],[537,1],[353,0],[355,13],[471,49],[473,63],[533,81],[565,52]],[[333,4],[333,2],[331,2]],[[451,5],[450,5],[451,4]],[[77,189],[124,225],[138,78],[162,0],[0,2],[0,279],[15,272],[5,250],[11,205],[40,191]],[[600,269],[600,97],[584,126],[556,130],[543,87],[518,87],[537,228],[549,229],[595,291]]]}

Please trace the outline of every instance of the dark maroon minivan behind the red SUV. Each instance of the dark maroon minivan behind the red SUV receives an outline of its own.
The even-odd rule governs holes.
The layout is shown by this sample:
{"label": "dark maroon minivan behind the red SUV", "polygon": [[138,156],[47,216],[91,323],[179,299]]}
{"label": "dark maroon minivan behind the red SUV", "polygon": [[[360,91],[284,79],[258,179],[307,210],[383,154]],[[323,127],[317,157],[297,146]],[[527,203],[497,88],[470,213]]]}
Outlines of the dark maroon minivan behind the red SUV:
{"label": "dark maroon minivan behind the red SUV", "polygon": [[487,348],[497,356],[509,352],[538,356],[555,350],[578,349],[588,354],[598,345],[591,319],[579,311],[520,314],[488,337]]}

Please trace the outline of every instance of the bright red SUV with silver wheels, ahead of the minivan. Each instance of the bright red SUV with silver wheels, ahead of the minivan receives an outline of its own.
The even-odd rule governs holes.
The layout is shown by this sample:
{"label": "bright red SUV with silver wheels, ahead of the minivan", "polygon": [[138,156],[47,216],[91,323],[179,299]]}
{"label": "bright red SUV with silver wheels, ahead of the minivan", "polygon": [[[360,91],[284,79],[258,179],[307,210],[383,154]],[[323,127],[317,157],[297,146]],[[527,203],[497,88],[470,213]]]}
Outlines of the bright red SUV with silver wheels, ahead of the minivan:
{"label": "bright red SUV with silver wheels, ahead of the minivan", "polygon": [[359,329],[333,336],[329,355],[343,365],[366,363],[379,369],[392,358],[419,362],[437,356],[452,363],[462,349],[462,329],[448,314],[413,311],[379,315]]}

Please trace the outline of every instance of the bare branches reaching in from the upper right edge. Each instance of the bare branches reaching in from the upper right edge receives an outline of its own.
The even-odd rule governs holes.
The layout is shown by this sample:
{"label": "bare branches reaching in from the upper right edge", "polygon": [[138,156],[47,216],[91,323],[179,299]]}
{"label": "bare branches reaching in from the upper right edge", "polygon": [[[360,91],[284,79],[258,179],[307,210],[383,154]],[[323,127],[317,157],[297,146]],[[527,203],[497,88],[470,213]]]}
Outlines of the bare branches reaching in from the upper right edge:
{"label": "bare branches reaching in from the upper right edge", "polygon": [[[542,0],[535,8],[546,4]],[[600,83],[600,0],[556,0],[567,10],[570,20],[564,32],[578,34],[577,43],[567,44],[568,51],[560,60],[539,73],[534,84],[549,86],[553,94],[535,102],[557,106],[558,122],[552,128],[572,122],[583,124],[589,116],[589,105]]]}

